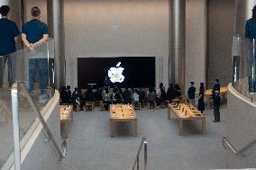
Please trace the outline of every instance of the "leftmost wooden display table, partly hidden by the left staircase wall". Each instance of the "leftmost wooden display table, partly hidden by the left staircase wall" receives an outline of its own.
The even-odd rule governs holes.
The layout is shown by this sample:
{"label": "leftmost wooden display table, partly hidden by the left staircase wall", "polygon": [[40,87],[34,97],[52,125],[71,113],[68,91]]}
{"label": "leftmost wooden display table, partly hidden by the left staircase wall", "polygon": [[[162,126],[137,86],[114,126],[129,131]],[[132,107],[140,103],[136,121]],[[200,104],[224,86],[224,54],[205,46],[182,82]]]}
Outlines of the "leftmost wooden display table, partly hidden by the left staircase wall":
{"label": "leftmost wooden display table, partly hidden by the left staircase wall", "polygon": [[60,130],[65,139],[69,138],[69,122],[73,121],[73,106],[59,105]]}

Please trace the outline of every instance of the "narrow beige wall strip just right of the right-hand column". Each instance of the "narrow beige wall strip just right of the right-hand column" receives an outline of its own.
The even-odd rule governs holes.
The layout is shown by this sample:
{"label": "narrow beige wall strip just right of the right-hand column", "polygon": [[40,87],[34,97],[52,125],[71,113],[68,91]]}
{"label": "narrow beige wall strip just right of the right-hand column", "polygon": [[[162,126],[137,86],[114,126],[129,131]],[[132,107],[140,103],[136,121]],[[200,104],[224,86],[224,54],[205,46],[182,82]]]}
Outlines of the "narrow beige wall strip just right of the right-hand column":
{"label": "narrow beige wall strip just right of the right-hand column", "polygon": [[206,82],[206,0],[187,0],[186,17],[185,92]]}

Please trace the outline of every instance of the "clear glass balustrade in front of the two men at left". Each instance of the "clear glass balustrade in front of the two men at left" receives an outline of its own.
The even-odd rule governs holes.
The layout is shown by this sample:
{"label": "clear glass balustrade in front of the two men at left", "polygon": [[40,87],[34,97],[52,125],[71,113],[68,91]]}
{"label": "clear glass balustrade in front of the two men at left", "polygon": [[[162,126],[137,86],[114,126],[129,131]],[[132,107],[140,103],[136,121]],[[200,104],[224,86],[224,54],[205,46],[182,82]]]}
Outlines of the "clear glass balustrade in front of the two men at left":
{"label": "clear glass balustrade in front of the two men at left", "polygon": [[[0,58],[0,169],[14,152],[11,85],[23,82],[24,88],[18,88],[19,139],[21,148],[28,137],[32,125],[38,118],[32,104],[38,110],[49,105],[54,95],[54,41],[49,40],[32,49],[22,49]],[[5,69],[4,69],[5,68]],[[28,94],[32,97],[28,97]],[[30,98],[30,99],[29,99]],[[2,146],[2,147],[1,147]]]}

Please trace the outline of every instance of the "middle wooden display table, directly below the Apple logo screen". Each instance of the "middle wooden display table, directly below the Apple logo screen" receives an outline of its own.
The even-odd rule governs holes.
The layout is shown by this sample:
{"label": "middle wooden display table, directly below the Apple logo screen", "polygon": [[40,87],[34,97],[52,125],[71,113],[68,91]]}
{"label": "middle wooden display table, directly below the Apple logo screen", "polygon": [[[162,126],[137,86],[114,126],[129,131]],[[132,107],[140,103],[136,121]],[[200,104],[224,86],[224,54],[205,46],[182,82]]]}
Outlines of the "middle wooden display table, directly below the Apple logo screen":
{"label": "middle wooden display table, directly below the Apple logo screen", "polygon": [[114,122],[133,121],[133,135],[137,136],[137,116],[133,106],[128,104],[110,105],[110,137],[114,138]]}

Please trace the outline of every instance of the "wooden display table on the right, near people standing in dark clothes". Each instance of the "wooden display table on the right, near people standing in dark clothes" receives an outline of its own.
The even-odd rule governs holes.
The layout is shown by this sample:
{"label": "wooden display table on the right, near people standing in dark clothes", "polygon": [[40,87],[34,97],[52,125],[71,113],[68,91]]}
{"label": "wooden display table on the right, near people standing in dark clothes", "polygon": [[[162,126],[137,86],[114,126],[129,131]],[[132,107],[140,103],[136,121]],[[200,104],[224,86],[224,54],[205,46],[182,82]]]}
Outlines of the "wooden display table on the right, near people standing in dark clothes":
{"label": "wooden display table on the right, near people standing in dark clothes", "polygon": [[170,110],[178,117],[179,135],[182,135],[183,121],[185,120],[202,120],[202,135],[206,134],[206,116],[197,109],[187,103],[169,103],[168,104],[168,119],[170,120]]}

